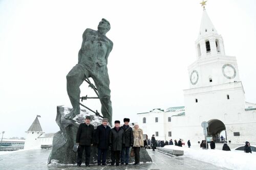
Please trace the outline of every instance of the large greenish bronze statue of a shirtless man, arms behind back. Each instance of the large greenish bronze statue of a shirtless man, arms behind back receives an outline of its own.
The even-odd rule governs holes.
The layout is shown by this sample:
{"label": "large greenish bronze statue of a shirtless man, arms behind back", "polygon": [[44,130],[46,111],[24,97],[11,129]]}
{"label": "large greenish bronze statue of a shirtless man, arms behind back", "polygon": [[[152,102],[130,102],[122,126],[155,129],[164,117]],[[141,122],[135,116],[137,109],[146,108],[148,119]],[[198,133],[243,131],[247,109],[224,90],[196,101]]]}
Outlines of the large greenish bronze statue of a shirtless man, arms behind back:
{"label": "large greenish bronze statue of a shirtless man, arms behind back", "polygon": [[[80,113],[80,85],[86,78],[92,78],[101,100],[101,113],[112,123],[110,100],[110,80],[108,75],[108,57],[113,42],[105,36],[110,30],[110,22],[104,18],[99,22],[98,30],[86,29],[82,35],[82,46],[76,64],[67,75],[67,91],[73,110],[66,118],[74,118]],[[102,106],[105,105],[105,107]]]}

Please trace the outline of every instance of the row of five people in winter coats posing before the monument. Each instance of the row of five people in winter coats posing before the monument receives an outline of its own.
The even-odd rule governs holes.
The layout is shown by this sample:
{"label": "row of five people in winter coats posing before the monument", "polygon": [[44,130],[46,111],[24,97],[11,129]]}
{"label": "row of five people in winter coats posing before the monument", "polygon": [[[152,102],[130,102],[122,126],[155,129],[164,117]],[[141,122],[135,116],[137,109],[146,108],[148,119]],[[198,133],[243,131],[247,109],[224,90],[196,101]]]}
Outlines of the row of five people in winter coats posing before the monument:
{"label": "row of five people in winter coats posing before the monument", "polygon": [[[89,167],[91,146],[94,144],[98,148],[98,166],[106,165],[106,153],[111,150],[111,165],[116,166],[129,164],[130,148],[134,151],[135,163],[140,162],[140,148],[143,147],[143,131],[138,124],[134,124],[134,129],[129,126],[130,119],[124,118],[124,125],[120,127],[120,121],[115,120],[115,127],[108,126],[108,119],[103,118],[102,124],[97,126],[94,134],[94,127],[90,124],[91,117],[86,116],[85,123],[79,125],[76,135],[76,143],[79,144],[77,155],[77,166],[81,166],[82,153],[86,153],[86,166]],[[94,139],[95,137],[95,139]]]}

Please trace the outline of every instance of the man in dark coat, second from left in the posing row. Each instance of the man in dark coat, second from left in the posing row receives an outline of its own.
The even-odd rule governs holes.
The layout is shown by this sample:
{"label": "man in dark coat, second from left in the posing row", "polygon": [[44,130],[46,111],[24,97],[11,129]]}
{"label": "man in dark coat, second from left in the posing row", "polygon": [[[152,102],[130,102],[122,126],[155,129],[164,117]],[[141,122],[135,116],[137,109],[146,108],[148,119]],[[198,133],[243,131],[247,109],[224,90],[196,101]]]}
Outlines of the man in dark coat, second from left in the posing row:
{"label": "man in dark coat, second from left in the posing row", "polygon": [[111,130],[111,128],[107,125],[108,121],[109,119],[103,118],[102,124],[96,129],[95,142],[98,146],[98,166],[101,164],[101,156],[102,165],[106,165],[106,151],[108,151],[109,148]]}

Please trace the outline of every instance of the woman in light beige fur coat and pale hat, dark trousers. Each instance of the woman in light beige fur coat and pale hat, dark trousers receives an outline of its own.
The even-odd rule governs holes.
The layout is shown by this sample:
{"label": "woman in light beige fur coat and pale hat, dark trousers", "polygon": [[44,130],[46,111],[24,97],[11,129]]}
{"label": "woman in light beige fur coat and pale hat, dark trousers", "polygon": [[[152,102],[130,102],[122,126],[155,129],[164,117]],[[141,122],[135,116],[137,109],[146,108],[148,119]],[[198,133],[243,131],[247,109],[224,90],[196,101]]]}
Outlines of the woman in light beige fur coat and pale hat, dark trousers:
{"label": "woman in light beige fur coat and pale hat, dark trousers", "polygon": [[135,156],[134,165],[139,165],[140,164],[140,147],[143,147],[143,131],[142,129],[139,128],[139,125],[137,123],[134,124],[133,136],[134,136],[133,150],[134,150],[134,156]]}

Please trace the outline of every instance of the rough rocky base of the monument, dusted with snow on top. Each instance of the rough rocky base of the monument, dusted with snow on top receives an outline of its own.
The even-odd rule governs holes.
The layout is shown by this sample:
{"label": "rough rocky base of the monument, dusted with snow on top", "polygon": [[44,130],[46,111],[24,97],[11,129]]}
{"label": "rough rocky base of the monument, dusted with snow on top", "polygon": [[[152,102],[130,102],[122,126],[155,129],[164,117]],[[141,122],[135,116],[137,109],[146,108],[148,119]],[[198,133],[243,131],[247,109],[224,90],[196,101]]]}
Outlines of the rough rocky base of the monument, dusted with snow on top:
{"label": "rough rocky base of the monument, dusted with snow on top", "polygon": [[[48,158],[48,164],[51,162],[61,164],[76,164],[77,153],[73,152],[73,145],[76,142],[76,132],[79,124],[84,123],[86,116],[91,116],[91,124],[96,127],[101,124],[101,117],[96,116],[94,113],[87,110],[81,110],[80,114],[76,115],[73,119],[66,119],[65,115],[72,109],[65,106],[57,106],[56,123],[58,124],[60,131],[55,133],[53,137],[52,152]],[[110,151],[108,151],[106,163],[111,162]],[[83,154],[83,163],[84,163]],[[91,159],[90,163],[97,163],[98,149],[97,147],[91,147]],[[151,157],[148,155],[145,149],[140,150],[141,162],[152,162]],[[134,157],[130,157],[130,162],[134,162]]]}

